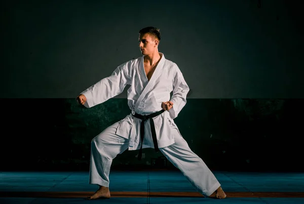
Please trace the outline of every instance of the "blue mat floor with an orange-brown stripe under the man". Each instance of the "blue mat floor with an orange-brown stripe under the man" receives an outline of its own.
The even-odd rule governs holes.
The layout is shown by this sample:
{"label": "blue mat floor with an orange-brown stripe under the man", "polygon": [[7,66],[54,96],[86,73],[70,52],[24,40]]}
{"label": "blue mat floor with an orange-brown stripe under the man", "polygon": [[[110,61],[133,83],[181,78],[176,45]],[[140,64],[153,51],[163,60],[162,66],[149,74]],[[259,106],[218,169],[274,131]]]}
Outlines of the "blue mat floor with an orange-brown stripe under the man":
{"label": "blue mat floor with an orange-brown stripe under the man", "polygon": [[111,198],[98,200],[85,199],[97,189],[88,172],[0,172],[0,203],[304,203],[304,173],[213,173],[227,198],[203,197],[178,171],[112,171]]}

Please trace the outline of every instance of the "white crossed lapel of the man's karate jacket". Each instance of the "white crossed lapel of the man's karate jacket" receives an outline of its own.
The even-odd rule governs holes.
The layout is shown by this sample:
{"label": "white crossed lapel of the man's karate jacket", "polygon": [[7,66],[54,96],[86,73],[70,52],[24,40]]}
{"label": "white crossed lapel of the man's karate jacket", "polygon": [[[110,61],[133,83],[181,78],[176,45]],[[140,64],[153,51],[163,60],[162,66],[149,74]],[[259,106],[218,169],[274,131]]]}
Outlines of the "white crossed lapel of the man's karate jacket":
{"label": "white crossed lapel of the man's karate jacket", "polygon": [[[154,85],[156,79],[161,75],[162,71],[163,71],[163,67],[165,64],[165,56],[163,53],[160,53],[162,55],[162,58],[160,60],[160,62],[158,63],[158,65],[155,68],[154,73],[152,74],[150,80],[148,81],[148,84],[145,86],[145,88],[143,89],[143,91],[141,92],[138,100],[136,101],[135,104],[135,109],[138,109],[139,104],[141,103],[141,101],[144,99],[144,97],[146,96],[146,94],[148,93],[148,91],[151,89],[151,87]],[[143,66],[143,59],[144,57],[142,57],[140,64],[139,64],[139,71],[144,75],[144,77],[147,80],[145,71],[144,71],[144,66]]]}

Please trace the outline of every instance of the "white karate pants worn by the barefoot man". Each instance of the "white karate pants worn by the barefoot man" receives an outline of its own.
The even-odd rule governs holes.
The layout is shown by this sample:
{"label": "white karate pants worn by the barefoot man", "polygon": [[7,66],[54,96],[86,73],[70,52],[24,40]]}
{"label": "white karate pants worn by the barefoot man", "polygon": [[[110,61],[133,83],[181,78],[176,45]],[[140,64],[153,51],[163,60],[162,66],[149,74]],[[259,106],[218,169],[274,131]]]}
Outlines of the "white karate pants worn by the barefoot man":
{"label": "white karate pants worn by the barefoot man", "polygon": [[[109,173],[112,159],[129,147],[129,140],[116,135],[119,123],[106,128],[97,135],[91,144],[90,184],[109,187]],[[196,155],[187,142],[173,129],[175,143],[160,151],[181,171],[187,180],[204,196],[210,196],[219,186],[219,182]]]}

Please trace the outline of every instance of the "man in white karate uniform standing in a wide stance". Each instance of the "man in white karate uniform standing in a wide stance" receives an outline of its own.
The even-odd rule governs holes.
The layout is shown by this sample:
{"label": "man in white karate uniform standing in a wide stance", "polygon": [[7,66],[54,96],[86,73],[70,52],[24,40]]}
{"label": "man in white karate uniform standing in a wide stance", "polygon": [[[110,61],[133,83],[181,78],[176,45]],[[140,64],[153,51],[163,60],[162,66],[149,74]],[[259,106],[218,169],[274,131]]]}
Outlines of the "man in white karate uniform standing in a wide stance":
{"label": "man in white karate uniform standing in a wide stance", "polygon": [[161,151],[204,196],[216,192],[216,198],[225,198],[220,183],[189,148],[174,123],[186,104],[189,87],[178,66],[158,51],[159,29],[141,29],[138,40],[142,57],[121,64],[77,97],[80,104],[90,108],[121,94],[130,85],[131,113],[92,140],[89,183],[99,185],[99,189],[88,199],[110,198],[112,159],[127,149],[139,149],[141,159],[142,148]]}

